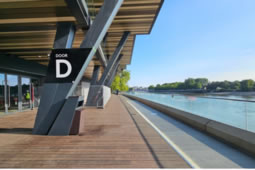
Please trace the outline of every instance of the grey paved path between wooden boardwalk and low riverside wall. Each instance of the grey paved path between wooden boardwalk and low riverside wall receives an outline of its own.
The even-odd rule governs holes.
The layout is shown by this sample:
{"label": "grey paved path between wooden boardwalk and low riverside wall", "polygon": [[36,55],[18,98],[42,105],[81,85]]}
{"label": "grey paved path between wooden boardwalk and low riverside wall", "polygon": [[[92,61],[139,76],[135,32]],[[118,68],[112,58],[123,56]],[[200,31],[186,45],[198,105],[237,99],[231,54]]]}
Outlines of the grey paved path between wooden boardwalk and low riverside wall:
{"label": "grey paved path between wooden boardwalk and low riverside wall", "polygon": [[201,168],[255,168],[255,158],[172,119],[140,102],[128,102]]}

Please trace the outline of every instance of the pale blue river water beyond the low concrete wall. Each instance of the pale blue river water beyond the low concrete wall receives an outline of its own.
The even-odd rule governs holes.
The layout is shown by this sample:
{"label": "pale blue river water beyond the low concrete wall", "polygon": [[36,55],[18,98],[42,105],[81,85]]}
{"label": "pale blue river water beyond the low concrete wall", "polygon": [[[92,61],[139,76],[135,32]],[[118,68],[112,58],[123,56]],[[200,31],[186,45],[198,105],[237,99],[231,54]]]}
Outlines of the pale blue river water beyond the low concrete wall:
{"label": "pale blue river water beyond the low concrete wall", "polygon": [[255,132],[255,98],[248,100],[242,96],[201,97],[149,92],[129,92],[128,94]]}

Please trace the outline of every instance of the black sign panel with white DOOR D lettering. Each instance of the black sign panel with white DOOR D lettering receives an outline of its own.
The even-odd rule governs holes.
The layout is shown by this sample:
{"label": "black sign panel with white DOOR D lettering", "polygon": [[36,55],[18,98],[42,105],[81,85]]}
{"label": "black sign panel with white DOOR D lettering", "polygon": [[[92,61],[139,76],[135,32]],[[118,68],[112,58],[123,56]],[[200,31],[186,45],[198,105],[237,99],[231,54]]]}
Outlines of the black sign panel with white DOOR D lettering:
{"label": "black sign panel with white DOOR D lettering", "polygon": [[72,83],[90,51],[91,48],[52,50],[45,82]]}

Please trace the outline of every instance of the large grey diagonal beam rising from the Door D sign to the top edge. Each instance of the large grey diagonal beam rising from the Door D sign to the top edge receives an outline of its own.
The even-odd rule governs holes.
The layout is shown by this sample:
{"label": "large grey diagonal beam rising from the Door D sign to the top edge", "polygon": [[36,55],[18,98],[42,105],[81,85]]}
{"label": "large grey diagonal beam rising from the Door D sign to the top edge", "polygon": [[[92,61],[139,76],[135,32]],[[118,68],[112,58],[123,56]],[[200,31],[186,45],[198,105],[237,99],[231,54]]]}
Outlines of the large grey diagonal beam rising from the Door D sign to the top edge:
{"label": "large grey diagonal beam rising from the Door D sign to the top edge", "polygon": [[68,92],[66,98],[72,95],[80,80],[82,79],[84,72],[86,71],[90,61],[95,55],[100,43],[102,42],[106,32],[111,26],[114,17],[117,15],[124,0],[107,0],[104,1],[99,13],[97,14],[92,26],[89,28],[85,39],[81,43],[81,48],[92,48],[87,60],[83,64],[80,73],[75,79],[73,86]]}

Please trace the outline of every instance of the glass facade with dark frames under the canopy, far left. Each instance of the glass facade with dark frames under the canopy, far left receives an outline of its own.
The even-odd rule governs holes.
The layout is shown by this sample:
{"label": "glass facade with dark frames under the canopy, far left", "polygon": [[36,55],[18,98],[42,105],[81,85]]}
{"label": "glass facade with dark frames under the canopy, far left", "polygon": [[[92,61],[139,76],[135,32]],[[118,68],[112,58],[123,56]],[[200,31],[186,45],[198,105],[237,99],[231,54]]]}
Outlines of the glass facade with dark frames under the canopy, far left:
{"label": "glass facade with dark frames under the canopy, far left", "polygon": [[21,75],[0,73],[0,116],[38,107],[38,81]]}

